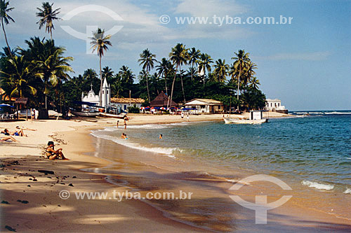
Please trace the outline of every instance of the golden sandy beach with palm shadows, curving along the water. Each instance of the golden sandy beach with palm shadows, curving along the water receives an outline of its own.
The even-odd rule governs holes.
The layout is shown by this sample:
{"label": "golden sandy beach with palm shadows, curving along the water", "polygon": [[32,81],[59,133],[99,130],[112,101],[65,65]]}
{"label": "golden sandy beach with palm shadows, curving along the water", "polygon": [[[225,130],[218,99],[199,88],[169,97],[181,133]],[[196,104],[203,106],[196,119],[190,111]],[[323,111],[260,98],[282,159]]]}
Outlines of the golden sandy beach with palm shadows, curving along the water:
{"label": "golden sandy beach with palm shadows, curving along the water", "polygon": [[[284,117],[280,113],[270,113],[270,118]],[[191,115],[190,122],[221,120],[223,115]],[[253,218],[252,211],[240,208],[226,209],[229,202],[227,190],[232,183],[220,181],[216,177],[196,176],[186,172],[171,172],[164,167],[150,167],[143,163],[140,152],[117,146],[109,148],[104,141],[90,136],[93,129],[103,129],[116,125],[117,119],[96,118],[96,122],[86,119],[37,120],[31,122],[0,122],[1,129],[15,129],[15,126],[37,129],[25,130],[27,137],[16,137],[18,143],[1,142],[1,230],[17,232],[251,232],[258,226],[243,227],[243,223]],[[179,115],[129,115],[128,125],[161,124],[184,122]],[[119,120],[120,127],[123,120]],[[67,161],[47,160],[44,147],[47,141],[54,141],[55,148],[63,148]],[[114,150],[118,156],[114,161],[102,159],[97,153]],[[152,156],[150,155],[150,160]],[[159,161],[161,164],[163,160]],[[116,173],[105,173],[113,167]],[[40,172],[40,170],[45,170]],[[84,171],[82,171],[84,170]],[[109,170],[111,171],[111,170]],[[140,178],[151,177],[143,181]],[[152,175],[150,175],[152,174]],[[238,174],[239,176],[239,174]],[[240,178],[240,177],[239,177]],[[173,180],[179,180],[173,181]],[[175,182],[175,183],[173,183]],[[201,182],[201,185],[199,185]],[[180,187],[174,188],[174,185]],[[211,192],[197,195],[196,190],[211,186]],[[173,187],[173,188],[172,188]],[[132,192],[138,190],[169,191],[179,189],[195,193],[187,202],[168,201],[169,209],[159,208],[164,202],[144,202],[135,199],[79,199],[73,192]],[[62,199],[62,190],[71,193]],[[269,190],[269,188],[268,188]],[[254,199],[246,192],[249,200]],[[275,194],[279,195],[279,194]],[[215,198],[216,197],[216,198]],[[190,213],[191,206],[201,205],[209,200],[221,201],[219,220],[211,216]],[[231,213],[234,211],[234,213]],[[187,213],[188,214],[185,214]],[[180,214],[183,213],[183,214]],[[264,230],[284,230],[314,232],[315,230],[348,232],[351,221],[336,218],[325,213],[305,209],[296,204],[286,204],[275,209],[273,223]],[[237,225],[226,225],[236,218]],[[312,220],[311,220],[312,219]],[[270,228],[272,227],[272,228]]]}

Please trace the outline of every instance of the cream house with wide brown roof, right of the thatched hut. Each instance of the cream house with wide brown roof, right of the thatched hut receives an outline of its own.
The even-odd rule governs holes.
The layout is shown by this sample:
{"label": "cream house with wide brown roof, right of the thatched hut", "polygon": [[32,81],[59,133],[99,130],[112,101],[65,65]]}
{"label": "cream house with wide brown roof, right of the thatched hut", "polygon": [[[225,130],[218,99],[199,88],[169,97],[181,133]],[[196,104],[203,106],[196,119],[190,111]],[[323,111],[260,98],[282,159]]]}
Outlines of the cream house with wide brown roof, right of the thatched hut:
{"label": "cream house with wide brown roof, right of the thatched hut", "polygon": [[192,99],[185,104],[186,108],[196,108],[195,113],[222,113],[222,102],[214,99]]}

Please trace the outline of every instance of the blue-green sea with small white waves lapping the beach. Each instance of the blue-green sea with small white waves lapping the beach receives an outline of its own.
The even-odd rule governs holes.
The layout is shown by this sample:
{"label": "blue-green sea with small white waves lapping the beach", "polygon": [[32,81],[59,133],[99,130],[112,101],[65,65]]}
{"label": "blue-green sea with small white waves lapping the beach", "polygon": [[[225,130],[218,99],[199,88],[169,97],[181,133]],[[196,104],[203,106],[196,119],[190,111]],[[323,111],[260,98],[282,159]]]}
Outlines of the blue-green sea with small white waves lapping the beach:
{"label": "blue-green sea with small white waves lapping the beach", "polygon": [[[108,127],[93,136],[208,167],[289,177],[306,189],[351,194],[351,111],[293,112],[262,125],[182,122]],[[190,117],[191,120],[191,117]],[[159,139],[163,134],[163,139]]]}

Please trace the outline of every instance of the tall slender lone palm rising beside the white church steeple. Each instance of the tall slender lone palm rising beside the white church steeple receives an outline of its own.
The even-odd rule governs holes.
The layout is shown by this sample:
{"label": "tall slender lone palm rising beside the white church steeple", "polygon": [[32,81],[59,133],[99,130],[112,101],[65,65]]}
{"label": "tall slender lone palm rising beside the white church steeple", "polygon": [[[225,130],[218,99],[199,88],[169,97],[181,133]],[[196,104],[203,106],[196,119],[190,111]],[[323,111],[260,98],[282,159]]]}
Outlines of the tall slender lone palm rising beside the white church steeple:
{"label": "tall slender lone palm rising beside the white church steeple", "polygon": [[112,43],[109,41],[111,35],[105,36],[105,29],[98,28],[97,31],[93,31],[93,37],[91,37],[91,49],[92,52],[96,50],[98,56],[100,58],[100,94],[99,94],[99,101],[100,106],[102,105],[102,71],[101,71],[101,58],[104,55],[104,52],[108,50],[108,46],[112,46]]}

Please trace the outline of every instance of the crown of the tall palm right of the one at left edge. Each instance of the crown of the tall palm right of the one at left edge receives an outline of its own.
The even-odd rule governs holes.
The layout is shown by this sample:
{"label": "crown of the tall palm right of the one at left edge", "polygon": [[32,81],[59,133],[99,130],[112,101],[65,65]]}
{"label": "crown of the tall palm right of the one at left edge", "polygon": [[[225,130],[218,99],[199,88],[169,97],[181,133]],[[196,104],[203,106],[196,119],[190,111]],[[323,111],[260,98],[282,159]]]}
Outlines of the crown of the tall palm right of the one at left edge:
{"label": "crown of the tall palm right of the one at left edge", "polygon": [[39,10],[39,12],[37,13],[37,17],[41,17],[41,19],[37,22],[37,24],[39,24],[39,29],[41,29],[41,27],[43,27],[44,24],[46,24],[45,31],[47,33],[50,33],[50,38],[52,40],[53,29],[55,29],[55,27],[53,27],[53,20],[60,20],[58,14],[60,14],[59,10],[61,8],[53,10],[53,3],[50,4],[48,2],[43,2],[41,8],[37,7],[37,9]]}

